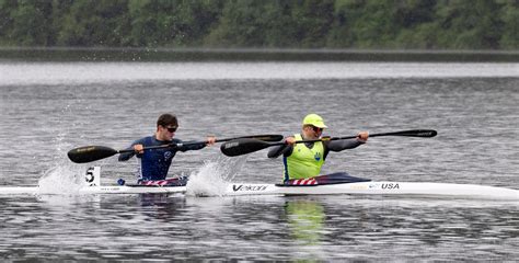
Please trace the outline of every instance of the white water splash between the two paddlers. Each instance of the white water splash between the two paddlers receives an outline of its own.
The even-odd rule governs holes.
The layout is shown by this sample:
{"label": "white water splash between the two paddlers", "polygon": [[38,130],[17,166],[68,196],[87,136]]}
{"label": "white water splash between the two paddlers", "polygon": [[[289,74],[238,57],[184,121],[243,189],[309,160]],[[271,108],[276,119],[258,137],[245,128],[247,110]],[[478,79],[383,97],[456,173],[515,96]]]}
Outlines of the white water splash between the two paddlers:
{"label": "white water splash between the two paddlers", "polygon": [[187,196],[223,196],[227,185],[246,162],[246,156],[239,158],[218,157],[207,161],[189,176]]}

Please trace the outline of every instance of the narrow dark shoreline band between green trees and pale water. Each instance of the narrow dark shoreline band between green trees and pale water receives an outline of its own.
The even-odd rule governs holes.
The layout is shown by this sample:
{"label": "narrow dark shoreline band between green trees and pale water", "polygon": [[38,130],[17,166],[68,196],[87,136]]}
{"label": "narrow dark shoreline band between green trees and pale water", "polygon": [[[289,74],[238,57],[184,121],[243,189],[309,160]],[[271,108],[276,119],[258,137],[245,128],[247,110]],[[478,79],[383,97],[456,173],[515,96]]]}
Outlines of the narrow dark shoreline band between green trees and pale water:
{"label": "narrow dark shoreline band between green trees and pale water", "polygon": [[519,62],[519,50],[0,47],[0,61]]}

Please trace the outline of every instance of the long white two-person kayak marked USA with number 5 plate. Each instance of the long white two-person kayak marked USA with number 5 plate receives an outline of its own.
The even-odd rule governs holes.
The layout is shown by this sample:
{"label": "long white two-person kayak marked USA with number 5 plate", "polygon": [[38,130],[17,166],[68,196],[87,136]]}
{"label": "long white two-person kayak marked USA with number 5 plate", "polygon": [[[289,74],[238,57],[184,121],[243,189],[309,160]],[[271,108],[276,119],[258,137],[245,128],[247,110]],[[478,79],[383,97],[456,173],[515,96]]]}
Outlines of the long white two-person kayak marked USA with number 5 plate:
{"label": "long white two-person kayak marked USA with number 5 plate", "polygon": [[[100,168],[91,168],[85,173],[85,185],[76,192],[67,194],[174,194],[186,193],[189,183],[184,186],[143,186],[143,185],[112,185],[100,184]],[[350,176],[351,179],[357,179]],[[362,180],[362,179],[360,179]],[[34,187],[0,187],[0,195],[20,194],[60,194],[46,192],[38,186]],[[316,184],[316,185],[280,185],[257,183],[229,183],[224,196],[240,195],[402,195],[402,196],[453,196],[460,198],[484,199],[519,199],[519,191],[505,187],[485,186],[475,184],[452,183],[418,183],[418,182],[362,182]]]}

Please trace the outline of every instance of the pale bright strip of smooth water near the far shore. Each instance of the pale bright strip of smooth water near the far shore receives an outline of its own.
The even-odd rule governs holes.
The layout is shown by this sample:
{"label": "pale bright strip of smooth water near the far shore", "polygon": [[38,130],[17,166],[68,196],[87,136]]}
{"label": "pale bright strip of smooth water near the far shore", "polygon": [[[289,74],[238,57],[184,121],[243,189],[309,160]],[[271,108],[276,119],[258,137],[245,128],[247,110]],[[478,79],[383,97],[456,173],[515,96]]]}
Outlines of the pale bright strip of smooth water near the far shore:
{"label": "pale bright strip of smooth water near the far shore", "polygon": [[[514,78],[519,71],[518,64],[512,62],[0,62],[0,87],[9,87],[172,80]],[[181,91],[170,88],[169,92]]]}

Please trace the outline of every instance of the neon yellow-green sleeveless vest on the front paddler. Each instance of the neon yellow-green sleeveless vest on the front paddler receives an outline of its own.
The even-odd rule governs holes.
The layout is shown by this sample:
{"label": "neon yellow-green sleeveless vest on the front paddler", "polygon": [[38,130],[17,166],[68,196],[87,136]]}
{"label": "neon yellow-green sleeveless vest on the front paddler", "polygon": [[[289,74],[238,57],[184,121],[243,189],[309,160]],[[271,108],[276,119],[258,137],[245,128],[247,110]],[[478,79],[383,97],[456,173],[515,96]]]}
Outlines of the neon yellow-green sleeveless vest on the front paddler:
{"label": "neon yellow-green sleeveless vest on the front paddler", "polygon": [[[302,140],[300,134],[295,135],[296,140]],[[322,141],[314,142],[312,149],[304,144],[293,145],[292,155],[284,157],[285,181],[292,179],[308,179],[321,173],[324,163],[324,146]]]}

